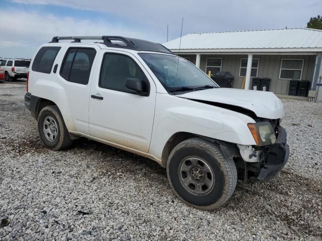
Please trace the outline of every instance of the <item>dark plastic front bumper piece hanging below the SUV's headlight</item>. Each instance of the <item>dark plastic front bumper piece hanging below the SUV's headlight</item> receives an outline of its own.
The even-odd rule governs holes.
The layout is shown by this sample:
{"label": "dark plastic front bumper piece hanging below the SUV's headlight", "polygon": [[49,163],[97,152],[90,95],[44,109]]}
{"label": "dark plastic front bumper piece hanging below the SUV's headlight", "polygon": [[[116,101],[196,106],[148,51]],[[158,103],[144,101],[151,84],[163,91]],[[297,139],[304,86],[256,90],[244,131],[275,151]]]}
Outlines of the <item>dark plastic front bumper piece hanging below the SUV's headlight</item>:
{"label": "dark plastic front bumper piece hanging below the SUV's headlight", "polygon": [[270,146],[267,152],[267,159],[260,169],[257,177],[259,181],[267,181],[277,174],[288,161],[290,154],[289,146],[286,144],[286,131],[278,127],[278,138],[274,145]]}

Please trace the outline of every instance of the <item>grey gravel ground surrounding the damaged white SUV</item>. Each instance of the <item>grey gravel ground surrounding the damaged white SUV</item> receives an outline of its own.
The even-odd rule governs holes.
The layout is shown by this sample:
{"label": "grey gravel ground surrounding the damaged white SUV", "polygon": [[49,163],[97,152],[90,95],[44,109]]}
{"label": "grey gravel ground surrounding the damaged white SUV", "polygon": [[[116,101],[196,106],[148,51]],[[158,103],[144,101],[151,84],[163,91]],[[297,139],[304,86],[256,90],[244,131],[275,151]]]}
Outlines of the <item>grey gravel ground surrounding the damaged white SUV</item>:
{"label": "grey gravel ground surrounding the damaged white SUV", "polygon": [[288,164],[201,211],[148,159],[87,139],[47,150],[24,94],[0,84],[0,240],[322,240],[322,104],[283,100]]}

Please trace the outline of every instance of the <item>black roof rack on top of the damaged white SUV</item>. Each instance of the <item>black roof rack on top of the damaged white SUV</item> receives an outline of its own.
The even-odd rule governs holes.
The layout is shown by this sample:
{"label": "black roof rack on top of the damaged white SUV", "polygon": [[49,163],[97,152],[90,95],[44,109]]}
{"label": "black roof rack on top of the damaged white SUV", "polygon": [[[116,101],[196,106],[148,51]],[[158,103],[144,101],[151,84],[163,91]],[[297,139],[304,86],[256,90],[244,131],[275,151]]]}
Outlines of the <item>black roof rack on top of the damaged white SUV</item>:
{"label": "black roof rack on top of the damaged white SUV", "polygon": [[157,44],[141,39],[125,38],[121,36],[56,36],[50,43],[58,43],[59,40],[73,40],[72,43],[81,43],[81,40],[103,40],[103,44],[111,48],[133,49],[137,51],[153,51],[174,54],[162,44]]}

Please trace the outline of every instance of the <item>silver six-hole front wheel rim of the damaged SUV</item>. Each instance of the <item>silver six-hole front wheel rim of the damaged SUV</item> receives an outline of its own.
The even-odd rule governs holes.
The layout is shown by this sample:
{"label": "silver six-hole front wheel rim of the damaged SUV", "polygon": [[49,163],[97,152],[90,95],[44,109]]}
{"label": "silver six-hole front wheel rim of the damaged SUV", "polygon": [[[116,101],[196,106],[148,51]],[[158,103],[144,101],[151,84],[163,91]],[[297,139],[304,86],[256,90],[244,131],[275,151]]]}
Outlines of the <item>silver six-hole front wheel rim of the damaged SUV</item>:
{"label": "silver six-hole front wheel rim of the damaged SUV", "polygon": [[178,170],[182,186],[195,196],[205,196],[215,186],[215,175],[209,164],[200,157],[187,157]]}

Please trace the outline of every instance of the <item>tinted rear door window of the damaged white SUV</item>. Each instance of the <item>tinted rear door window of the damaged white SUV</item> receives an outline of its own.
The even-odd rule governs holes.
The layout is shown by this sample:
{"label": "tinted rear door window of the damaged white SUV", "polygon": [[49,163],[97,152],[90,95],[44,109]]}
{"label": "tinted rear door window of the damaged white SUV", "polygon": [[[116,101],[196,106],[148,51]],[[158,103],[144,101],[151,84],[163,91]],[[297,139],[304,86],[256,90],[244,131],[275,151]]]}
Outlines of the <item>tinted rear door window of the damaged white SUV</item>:
{"label": "tinted rear door window of the damaged white SUV", "polygon": [[88,84],[95,55],[95,49],[69,48],[60,75],[69,82]]}

